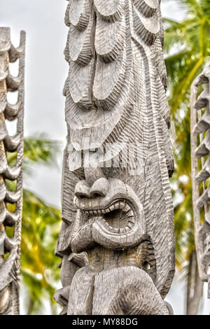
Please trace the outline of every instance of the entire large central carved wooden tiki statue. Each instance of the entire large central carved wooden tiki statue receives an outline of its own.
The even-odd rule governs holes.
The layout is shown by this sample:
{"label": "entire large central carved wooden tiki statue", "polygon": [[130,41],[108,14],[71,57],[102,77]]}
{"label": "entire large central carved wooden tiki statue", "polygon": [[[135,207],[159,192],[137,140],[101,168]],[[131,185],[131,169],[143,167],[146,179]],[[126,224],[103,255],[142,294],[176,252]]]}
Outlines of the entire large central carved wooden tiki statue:
{"label": "entire large central carved wooden tiki statue", "polygon": [[169,314],[174,169],[159,0],[70,0],[62,314]]}

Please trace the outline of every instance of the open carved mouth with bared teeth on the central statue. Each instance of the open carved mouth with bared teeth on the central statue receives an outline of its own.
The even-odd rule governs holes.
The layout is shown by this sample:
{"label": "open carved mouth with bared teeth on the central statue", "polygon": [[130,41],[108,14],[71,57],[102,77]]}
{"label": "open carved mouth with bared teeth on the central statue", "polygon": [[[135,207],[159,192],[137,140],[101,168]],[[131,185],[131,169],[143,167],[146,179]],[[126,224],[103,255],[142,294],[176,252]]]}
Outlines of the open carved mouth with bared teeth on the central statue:
{"label": "open carved mouth with bared teeth on the central statue", "polygon": [[105,227],[113,233],[129,232],[134,226],[134,211],[125,200],[115,200],[104,209],[85,209],[83,214],[86,223],[100,217]]}

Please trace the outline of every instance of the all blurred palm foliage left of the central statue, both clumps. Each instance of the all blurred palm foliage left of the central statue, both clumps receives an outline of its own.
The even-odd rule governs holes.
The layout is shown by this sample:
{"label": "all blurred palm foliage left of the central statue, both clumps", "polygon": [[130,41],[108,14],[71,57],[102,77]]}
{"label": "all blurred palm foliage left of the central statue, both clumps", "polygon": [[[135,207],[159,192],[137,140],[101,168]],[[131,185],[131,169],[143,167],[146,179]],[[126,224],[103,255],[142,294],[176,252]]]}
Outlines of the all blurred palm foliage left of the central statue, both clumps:
{"label": "all blurred palm foliage left of the central statue, both clumps", "polygon": [[[44,136],[25,139],[24,174],[31,174],[31,164],[55,165],[59,144]],[[15,154],[8,154],[10,165]],[[9,183],[9,182],[8,182]],[[10,182],[10,190],[15,188]],[[12,211],[12,204],[10,210]],[[29,190],[23,190],[22,241],[21,241],[21,288],[25,293],[27,314],[37,314],[43,300],[49,301],[51,313],[57,313],[53,300],[59,281],[59,258],[55,257],[55,244],[60,229],[59,209],[46,204]],[[7,228],[12,236],[12,229]]]}

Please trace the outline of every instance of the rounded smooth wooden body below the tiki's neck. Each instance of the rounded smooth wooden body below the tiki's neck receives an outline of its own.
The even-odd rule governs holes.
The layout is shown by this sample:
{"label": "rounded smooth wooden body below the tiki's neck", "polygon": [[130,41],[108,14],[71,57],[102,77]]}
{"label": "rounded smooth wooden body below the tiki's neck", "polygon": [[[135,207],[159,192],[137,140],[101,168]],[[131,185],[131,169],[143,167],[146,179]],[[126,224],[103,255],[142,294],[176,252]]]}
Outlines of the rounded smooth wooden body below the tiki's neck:
{"label": "rounded smooth wooden body below the tiki's neck", "polygon": [[70,295],[70,315],[169,315],[151,277],[137,267],[96,273],[83,267],[71,283]]}

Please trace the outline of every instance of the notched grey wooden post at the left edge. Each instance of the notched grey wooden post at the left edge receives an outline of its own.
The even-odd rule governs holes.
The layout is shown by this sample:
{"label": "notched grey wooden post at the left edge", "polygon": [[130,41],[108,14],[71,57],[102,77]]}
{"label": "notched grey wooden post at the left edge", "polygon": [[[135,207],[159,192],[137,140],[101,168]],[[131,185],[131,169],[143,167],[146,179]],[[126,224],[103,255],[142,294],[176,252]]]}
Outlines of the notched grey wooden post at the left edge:
{"label": "notched grey wooden post at the left edge", "polygon": [[[9,63],[19,59],[17,77],[10,75]],[[10,41],[10,29],[0,28],[0,314],[19,313],[20,237],[22,218],[22,159],[24,111],[25,32],[16,49]],[[18,91],[17,104],[9,104],[7,92]],[[17,131],[10,137],[6,120],[17,119]],[[15,167],[10,167],[7,152],[17,153]],[[15,181],[16,190],[8,190],[6,181]],[[8,204],[15,204],[10,212]],[[6,227],[14,227],[12,238]],[[8,253],[7,257],[5,255]]]}

